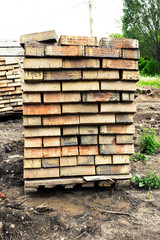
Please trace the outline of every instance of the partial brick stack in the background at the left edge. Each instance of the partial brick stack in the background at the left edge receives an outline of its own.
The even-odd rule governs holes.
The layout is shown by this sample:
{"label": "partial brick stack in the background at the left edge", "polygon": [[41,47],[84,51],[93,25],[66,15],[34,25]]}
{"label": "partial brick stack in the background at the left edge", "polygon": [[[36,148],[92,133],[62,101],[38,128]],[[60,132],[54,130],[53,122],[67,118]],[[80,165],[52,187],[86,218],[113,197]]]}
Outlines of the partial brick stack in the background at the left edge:
{"label": "partial brick stack in the background at the left edge", "polygon": [[0,58],[0,115],[22,113],[21,63]]}

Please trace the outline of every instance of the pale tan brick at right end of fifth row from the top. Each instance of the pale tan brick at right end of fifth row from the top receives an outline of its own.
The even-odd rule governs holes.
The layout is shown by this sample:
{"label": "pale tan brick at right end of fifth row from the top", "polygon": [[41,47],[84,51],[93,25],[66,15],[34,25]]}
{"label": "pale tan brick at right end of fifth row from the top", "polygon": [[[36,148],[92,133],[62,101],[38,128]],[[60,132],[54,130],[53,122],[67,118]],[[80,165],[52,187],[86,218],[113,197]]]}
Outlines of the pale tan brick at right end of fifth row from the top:
{"label": "pale tan brick at right end of fifth row from the top", "polygon": [[102,81],[101,90],[107,91],[136,91],[136,84],[134,82],[121,82],[121,81]]}

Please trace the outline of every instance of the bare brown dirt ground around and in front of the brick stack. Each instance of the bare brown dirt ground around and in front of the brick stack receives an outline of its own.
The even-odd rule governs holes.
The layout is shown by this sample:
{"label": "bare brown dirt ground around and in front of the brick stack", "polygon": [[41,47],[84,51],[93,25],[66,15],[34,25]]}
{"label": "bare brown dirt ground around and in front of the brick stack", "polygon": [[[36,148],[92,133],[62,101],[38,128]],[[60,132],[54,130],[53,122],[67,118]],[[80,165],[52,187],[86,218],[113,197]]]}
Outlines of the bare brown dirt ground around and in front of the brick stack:
{"label": "bare brown dirt ground around and in front of the brick stack", "polygon": [[[160,135],[160,91],[138,89],[134,116],[135,147],[142,126]],[[133,185],[116,189],[40,189],[24,194],[22,119],[0,121],[0,239],[2,240],[147,240],[160,239],[160,190]],[[146,162],[131,161],[131,173],[160,173],[160,153]]]}

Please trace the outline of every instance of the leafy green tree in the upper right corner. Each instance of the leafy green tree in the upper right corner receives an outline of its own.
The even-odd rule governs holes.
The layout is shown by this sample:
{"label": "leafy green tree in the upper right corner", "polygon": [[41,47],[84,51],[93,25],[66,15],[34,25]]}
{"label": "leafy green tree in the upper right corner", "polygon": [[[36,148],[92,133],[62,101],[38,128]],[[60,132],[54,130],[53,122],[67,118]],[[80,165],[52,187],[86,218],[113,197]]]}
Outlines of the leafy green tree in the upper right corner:
{"label": "leafy green tree in the upper right corner", "polygon": [[141,56],[154,59],[160,72],[160,0],[124,0],[122,31],[126,38],[136,38]]}

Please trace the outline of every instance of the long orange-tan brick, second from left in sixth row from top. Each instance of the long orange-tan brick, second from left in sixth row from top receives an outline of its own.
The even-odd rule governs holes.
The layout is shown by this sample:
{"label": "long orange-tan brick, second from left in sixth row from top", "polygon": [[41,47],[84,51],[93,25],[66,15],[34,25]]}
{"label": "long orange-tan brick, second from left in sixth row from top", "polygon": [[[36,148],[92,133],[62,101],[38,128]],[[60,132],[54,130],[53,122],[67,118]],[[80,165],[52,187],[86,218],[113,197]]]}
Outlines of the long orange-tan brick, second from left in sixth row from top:
{"label": "long orange-tan brick, second from left in sixth row from top", "polygon": [[44,93],[44,103],[81,102],[80,93]]}

